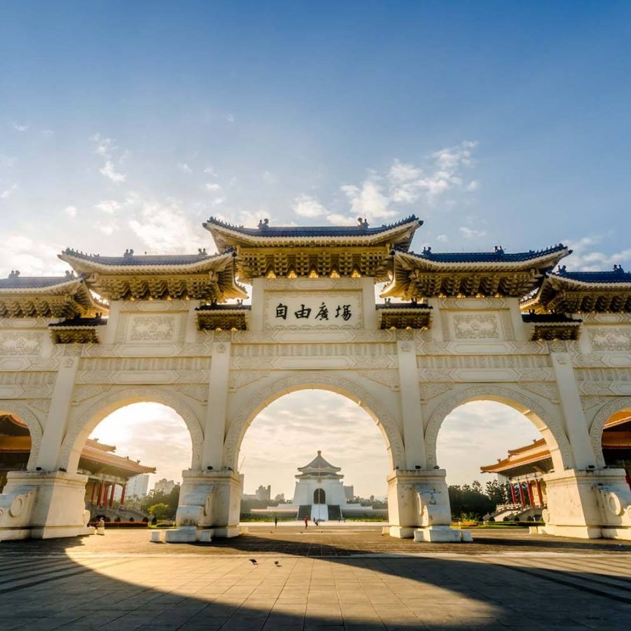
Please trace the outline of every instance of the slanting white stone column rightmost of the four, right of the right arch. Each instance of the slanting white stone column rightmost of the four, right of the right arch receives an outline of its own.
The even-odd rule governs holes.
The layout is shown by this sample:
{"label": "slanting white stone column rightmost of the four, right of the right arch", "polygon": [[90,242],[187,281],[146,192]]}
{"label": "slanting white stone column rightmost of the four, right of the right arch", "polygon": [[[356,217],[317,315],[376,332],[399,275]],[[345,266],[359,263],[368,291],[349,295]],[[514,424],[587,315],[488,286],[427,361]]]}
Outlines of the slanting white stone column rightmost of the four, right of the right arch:
{"label": "slanting white stone column rightmost of the four, right of the right arch", "polygon": [[578,392],[570,356],[568,353],[553,352],[550,353],[550,359],[559,388],[559,401],[565,417],[567,436],[574,454],[574,466],[578,469],[594,467],[596,458],[590,443],[581,394]]}

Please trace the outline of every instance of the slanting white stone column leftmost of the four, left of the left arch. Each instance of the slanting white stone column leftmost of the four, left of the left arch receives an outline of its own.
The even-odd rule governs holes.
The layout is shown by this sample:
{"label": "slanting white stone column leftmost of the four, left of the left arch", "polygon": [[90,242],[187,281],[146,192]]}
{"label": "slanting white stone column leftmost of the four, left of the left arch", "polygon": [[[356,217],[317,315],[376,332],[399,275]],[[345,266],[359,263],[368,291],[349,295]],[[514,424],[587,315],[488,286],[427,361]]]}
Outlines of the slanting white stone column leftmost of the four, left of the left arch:
{"label": "slanting white stone column leftmost of the four, left of the left arch", "polygon": [[41,447],[37,456],[36,466],[44,471],[57,470],[57,459],[66,430],[67,418],[72,402],[72,388],[76,371],[79,367],[78,357],[62,358],[57,371],[55,389],[50,399],[50,408],[46,417],[46,425],[43,428]]}

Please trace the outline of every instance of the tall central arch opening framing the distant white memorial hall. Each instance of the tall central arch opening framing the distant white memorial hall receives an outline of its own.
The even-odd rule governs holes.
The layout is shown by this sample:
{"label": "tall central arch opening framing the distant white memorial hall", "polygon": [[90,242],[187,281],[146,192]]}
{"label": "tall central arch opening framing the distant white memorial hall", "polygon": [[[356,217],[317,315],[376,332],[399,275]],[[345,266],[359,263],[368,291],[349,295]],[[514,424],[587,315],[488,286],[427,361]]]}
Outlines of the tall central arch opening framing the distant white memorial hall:
{"label": "tall central arch opening framing the distant white memorial hall", "polygon": [[347,396],[325,390],[280,395],[240,445],[243,521],[387,520],[387,440]]}

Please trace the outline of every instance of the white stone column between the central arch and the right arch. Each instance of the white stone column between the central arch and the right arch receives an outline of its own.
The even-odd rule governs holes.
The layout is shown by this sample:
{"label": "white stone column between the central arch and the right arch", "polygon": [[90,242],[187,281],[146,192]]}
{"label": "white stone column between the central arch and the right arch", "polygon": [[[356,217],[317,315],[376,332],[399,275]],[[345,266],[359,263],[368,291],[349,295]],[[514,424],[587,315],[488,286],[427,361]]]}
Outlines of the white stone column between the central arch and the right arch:
{"label": "white stone column between the central arch and the right arch", "polygon": [[426,467],[423,412],[419,392],[419,371],[416,368],[416,348],[413,339],[397,343],[403,442],[408,469]]}

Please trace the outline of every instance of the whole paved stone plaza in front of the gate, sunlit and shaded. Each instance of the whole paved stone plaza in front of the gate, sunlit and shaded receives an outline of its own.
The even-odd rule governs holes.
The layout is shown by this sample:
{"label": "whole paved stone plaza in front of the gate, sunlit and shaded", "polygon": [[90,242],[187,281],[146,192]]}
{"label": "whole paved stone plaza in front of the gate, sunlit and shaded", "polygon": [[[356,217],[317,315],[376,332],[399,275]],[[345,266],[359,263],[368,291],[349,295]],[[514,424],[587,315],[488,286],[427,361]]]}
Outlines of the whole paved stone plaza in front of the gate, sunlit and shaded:
{"label": "whole paved stone plaza in front of the gate, sunlit and shaded", "polygon": [[476,531],[250,527],[211,544],[147,530],[0,544],[0,627],[88,630],[631,628],[631,545]]}

